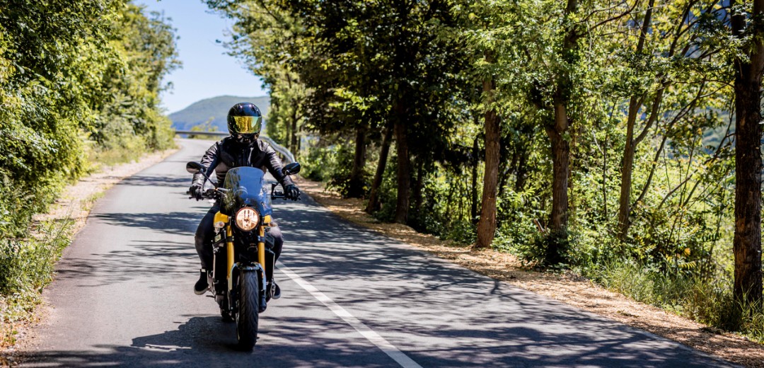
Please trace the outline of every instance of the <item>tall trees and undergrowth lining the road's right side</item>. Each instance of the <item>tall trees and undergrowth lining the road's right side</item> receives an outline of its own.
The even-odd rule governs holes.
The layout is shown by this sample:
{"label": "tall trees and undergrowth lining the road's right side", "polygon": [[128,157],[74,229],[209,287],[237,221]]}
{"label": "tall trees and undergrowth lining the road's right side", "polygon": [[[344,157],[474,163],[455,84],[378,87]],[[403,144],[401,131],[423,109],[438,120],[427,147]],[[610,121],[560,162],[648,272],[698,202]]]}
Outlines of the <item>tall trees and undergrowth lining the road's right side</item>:
{"label": "tall trees and undergrowth lining the road's right side", "polygon": [[206,2],[306,177],[764,342],[761,0]]}

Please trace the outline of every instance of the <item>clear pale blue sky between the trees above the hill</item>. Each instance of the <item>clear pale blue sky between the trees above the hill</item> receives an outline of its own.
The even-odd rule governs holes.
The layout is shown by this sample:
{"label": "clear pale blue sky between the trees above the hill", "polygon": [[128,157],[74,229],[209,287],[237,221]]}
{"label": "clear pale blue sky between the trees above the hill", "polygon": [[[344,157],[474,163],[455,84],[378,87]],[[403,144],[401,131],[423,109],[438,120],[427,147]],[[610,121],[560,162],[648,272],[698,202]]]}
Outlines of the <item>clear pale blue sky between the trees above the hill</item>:
{"label": "clear pale blue sky between the trees above the hill", "polygon": [[230,41],[226,31],[233,21],[212,13],[202,0],[134,0],[146,5],[148,11],[164,12],[165,18],[176,28],[180,69],[165,76],[173,88],[161,95],[162,107],[167,113],[185,109],[200,99],[215,96],[266,96],[262,80],[246,70],[235,57],[225,54],[222,44]]}

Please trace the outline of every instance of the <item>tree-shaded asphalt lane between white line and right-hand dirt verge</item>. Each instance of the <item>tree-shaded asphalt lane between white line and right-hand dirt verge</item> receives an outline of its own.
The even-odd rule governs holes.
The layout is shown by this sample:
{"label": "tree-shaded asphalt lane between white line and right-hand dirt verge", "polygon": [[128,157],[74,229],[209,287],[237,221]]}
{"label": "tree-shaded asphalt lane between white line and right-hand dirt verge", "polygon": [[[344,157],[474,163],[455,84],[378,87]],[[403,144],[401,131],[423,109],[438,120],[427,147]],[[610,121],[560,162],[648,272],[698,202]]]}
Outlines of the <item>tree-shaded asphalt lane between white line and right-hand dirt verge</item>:
{"label": "tree-shaded asphalt lane between white line and right-hand dirt verge", "polygon": [[422,366],[726,366],[435,259],[321,207],[275,210],[282,262]]}

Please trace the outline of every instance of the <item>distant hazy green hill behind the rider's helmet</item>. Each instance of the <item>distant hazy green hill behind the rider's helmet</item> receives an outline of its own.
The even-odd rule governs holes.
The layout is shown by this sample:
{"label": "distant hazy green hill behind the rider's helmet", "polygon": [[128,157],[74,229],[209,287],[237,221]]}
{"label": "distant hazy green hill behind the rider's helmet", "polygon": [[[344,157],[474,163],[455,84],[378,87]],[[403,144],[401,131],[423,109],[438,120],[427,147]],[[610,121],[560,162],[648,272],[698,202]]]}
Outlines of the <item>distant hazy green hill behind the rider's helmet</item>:
{"label": "distant hazy green hill behind the rider's helmet", "polygon": [[212,119],[211,126],[217,127],[221,132],[228,132],[228,125],[225,118],[228,115],[228,109],[237,103],[254,103],[267,117],[270,107],[270,97],[238,97],[238,96],[218,96],[211,99],[202,99],[192,103],[186,109],[170,114],[170,120],[173,122],[173,128],[176,130],[191,130],[196,125],[202,125]]}

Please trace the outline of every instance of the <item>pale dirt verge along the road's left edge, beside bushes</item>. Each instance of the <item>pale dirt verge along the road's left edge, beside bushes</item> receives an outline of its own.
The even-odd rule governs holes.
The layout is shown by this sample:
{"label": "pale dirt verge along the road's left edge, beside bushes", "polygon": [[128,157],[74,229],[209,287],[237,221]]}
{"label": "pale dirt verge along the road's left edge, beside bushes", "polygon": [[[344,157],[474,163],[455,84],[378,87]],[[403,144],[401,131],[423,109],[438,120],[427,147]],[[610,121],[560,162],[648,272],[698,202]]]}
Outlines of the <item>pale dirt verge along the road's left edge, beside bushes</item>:
{"label": "pale dirt verge along the road's left edge, beside bushes", "polygon": [[[138,161],[101,167],[98,172],[83,177],[75,184],[67,186],[47,213],[40,213],[34,216],[35,225],[33,225],[31,236],[43,236],[40,231],[37,231],[37,224],[44,222],[66,222],[70,223],[66,233],[70,239],[73,238],[85,226],[92,205],[103,196],[108,188],[117,184],[125,177],[130,177],[145,168],[157,164],[175,151],[177,149],[157,151],[144,155]],[[31,333],[31,327],[42,320],[45,313],[45,306],[37,305],[34,311],[31,311],[30,318],[28,319],[17,321],[13,324],[2,324],[3,318],[0,318],[0,336],[6,336],[10,331],[15,331],[15,344],[10,339],[0,341],[0,366],[15,365],[15,352],[23,350],[24,343],[28,340],[28,335]]]}

